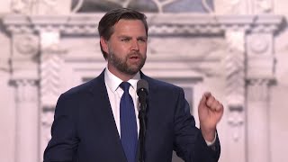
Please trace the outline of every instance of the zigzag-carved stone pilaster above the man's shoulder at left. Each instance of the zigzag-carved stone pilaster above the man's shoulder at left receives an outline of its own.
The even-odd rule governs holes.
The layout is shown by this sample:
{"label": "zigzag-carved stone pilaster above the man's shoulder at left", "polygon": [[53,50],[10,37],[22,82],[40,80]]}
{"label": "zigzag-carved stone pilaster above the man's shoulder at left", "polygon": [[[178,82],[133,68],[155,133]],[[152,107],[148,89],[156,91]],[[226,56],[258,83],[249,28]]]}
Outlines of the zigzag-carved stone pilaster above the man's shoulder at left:
{"label": "zigzag-carved stone pilaster above the man's shoulder at left", "polygon": [[[59,45],[57,31],[40,32],[40,103],[42,107],[52,105],[60,94],[60,71],[64,64],[62,54],[66,50]],[[54,103],[53,103],[54,104]]]}

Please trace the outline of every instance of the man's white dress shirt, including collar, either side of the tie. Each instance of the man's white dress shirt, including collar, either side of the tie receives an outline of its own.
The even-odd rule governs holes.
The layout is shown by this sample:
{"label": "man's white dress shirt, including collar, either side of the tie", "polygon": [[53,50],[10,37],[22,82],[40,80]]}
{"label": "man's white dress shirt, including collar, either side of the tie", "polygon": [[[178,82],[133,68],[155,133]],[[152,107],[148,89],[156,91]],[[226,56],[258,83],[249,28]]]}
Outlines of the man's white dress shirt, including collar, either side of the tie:
{"label": "man's white dress shirt, including collar, either side of the tie", "polygon": [[[109,96],[109,101],[112,108],[112,113],[114,115],[114,120],[117,126],[117,130],[119,133],[119,136],[121,137],[121,126],[120,126],[120,100],[121,96],[124,93],[124,91],[119,86],[123,81],[117,77],[114,76],[109,70],[108,67],[106,67],[104,72],[104,79],[105,79],[105,85]],[[136,121],[137,121],[137,130],[139,134],[139,119],[138,119],[138,110],[139,110],[139,103],[138,103],[138,95],[136,93],[137,91],[137,82],[140,79],[139,72],[128,82],[130,83],[129,88],[129,94],[131,95],[134,103],[135,108],[135,114],[136,114]]]}

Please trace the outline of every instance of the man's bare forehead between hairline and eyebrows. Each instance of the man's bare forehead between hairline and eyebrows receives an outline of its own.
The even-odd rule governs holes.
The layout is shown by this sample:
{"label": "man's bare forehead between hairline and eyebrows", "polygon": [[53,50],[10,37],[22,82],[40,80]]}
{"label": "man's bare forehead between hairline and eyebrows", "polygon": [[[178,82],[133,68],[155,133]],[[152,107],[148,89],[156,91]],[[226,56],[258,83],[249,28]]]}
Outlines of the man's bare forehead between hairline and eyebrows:
{"label": "man's bare forehead between hairline and eyebrows", "polygon": [[113,26],[113,33],[115,34],[139,34],[146,36],[146,29],[144,23],[140,20],[126,20],[121,19]]}

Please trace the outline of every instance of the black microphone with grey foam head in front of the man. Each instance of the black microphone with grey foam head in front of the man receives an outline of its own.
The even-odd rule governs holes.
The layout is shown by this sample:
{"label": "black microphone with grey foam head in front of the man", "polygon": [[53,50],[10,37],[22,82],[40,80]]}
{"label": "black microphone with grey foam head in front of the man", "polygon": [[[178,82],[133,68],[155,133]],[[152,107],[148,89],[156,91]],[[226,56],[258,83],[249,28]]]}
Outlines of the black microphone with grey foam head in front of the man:
{"label": "black microphone with grey foam head in front of the man", "polygon": [[137,82],[137,94],[139,96],[139,108],[142,111],[146,111],[147,108],[147,96],[148,96],[148,82],[140,79]]}

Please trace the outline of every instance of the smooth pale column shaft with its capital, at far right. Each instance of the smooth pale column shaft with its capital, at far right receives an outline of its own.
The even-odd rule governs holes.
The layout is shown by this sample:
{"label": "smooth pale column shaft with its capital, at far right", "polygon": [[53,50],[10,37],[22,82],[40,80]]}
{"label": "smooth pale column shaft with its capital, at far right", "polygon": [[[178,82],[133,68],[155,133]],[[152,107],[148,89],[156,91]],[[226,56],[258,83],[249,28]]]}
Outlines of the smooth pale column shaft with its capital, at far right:
{"label": "smooth pale column shaft with its capital, at far right", "polygon": [[269,85],[267,79],[247,82],[248,162],[270,162]]}

